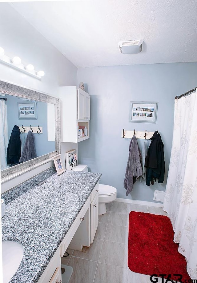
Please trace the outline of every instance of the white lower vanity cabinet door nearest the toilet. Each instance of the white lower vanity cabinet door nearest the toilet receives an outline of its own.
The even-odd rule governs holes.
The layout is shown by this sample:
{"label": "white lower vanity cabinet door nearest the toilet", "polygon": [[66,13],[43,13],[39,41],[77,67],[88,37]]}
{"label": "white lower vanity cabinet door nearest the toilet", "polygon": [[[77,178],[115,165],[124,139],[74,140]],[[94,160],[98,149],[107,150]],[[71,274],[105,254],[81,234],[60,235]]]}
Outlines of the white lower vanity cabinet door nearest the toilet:
{"label": "white lower vanity cabinet door nearest the toilet", "polygon": [[91,202],[91,243],[98,227],[98,192],[96,193],[93,201]]}

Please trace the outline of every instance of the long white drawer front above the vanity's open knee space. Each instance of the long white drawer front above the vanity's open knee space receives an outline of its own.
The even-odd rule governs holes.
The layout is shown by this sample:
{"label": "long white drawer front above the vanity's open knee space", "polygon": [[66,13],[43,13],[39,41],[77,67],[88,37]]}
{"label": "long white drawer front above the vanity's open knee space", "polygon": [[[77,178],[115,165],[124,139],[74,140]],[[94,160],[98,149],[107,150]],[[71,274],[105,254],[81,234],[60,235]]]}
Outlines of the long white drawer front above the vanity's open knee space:
{"label": "long white drawer front above the vanity's open knee space", "polygon": [[78,229],[78,227],[79,227],[79,225],[80,225],[80,223],[82,221],[82,218],[86,214],[86,211],[89,209],[89,207],[90,207],[90,196],[86,200],[86,202],[83,205],[81,211],[79,212],[78,216],[74,220],[74,222],[71,225],[70,229],[66,233],[66,236],[62,240],[62,243],[60,245],[60,256],[61,257],[63,257],[64,253],[66,252],[66,249],[68,248],[68,246],[70,244],[70,241],[72,240],[75,232],[77,231],[77,229]]}

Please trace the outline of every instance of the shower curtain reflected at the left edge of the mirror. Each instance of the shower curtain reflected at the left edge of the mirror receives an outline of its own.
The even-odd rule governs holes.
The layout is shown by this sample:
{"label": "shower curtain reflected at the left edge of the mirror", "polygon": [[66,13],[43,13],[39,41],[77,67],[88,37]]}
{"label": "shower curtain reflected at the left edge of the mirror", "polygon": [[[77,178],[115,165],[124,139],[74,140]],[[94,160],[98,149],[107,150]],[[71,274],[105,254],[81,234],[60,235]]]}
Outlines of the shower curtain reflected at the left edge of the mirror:
{"label": "shower curtain reflected at the left edge of the mirror", "polygon": [[[1,96],[4,96],[1,94]],[[7,168],[7,108],[5,100],[0,100],[0,157],[1,157],[1,170]]]}

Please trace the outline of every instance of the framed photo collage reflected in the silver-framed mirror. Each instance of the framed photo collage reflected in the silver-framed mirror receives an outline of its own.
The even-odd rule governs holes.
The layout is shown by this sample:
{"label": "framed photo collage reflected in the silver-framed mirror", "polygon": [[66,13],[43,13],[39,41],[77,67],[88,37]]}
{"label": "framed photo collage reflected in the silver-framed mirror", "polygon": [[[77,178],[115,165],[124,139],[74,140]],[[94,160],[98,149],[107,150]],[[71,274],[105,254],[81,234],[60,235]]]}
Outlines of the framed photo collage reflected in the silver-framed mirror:
{"label": "framed photo collage reflected in the silver-framed mirror", "polygon": [[18,102],[18,119],[37,119],[37,103]]}

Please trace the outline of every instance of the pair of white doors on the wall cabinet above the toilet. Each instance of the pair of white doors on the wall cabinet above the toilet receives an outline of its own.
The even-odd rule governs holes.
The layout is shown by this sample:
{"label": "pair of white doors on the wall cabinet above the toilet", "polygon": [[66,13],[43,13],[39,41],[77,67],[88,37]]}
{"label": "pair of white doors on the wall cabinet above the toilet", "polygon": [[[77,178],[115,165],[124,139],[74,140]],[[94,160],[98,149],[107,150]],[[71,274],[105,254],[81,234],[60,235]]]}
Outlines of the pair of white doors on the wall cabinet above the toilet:
{"label": "pair of white doors on the wall cabinet above the toilet", "polygon": [[83,90],[77,90],[77,118],[90,120],[90,95]]}

